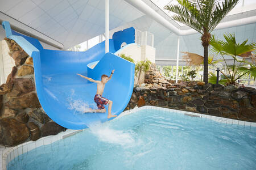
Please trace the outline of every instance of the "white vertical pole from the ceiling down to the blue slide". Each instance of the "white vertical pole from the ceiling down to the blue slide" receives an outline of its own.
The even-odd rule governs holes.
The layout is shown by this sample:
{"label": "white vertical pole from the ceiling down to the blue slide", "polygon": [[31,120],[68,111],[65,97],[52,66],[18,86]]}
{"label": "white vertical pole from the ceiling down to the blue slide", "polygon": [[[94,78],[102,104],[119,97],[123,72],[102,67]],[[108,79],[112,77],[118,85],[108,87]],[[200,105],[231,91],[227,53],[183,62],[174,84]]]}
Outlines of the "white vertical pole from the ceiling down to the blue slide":
{"label": "white vertical pole from the ceiling down to the blue slide", "polygon": [[109,0],[105,0],[105,53],[109,52]]}

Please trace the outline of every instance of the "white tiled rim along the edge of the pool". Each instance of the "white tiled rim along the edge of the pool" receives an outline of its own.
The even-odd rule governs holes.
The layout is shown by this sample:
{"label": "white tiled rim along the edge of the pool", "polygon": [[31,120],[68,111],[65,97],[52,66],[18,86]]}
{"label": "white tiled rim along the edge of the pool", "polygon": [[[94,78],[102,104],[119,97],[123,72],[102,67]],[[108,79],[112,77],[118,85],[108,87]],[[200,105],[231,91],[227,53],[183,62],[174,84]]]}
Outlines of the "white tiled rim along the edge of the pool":
{"label": "white tiled rim along the edge of the pool", "polygon": [[[232,120],[232,119],[224,118],[224,117],[210,116],[207,114],[179,111],[179,110],[175,110],[175,109],[160,108],[160,107],[154,107],[154,106],[144,106],[144,107],[140,107],[140,108],[137,107],[137,108],[122,112],[117,118],[113,119],[112,121],[118,121],[118,119],[123,116],[126,116],[131,113],[135,113],[138,111],[142,111],[144,109],[156,109],[157,111],[164,111],[164,113],[184,114],[184,116],[193,116],[193,117],[199,117],[199,118],[205,118],[205,119],[207,118],[212,121],[220,122],[223,124],[233,124],[233,125],[256,127],[255,122]],[[106,122],[106,123],[108,123],[108,122]],[[34,148],[37,148],[40,146],[50,145],[53,142],[70,137],[70,136],[75,135],[81,131],[83,131],[83,130],[68,129],[64,132],[57,134],[57,135],[43,137],[43,138],[38,139],[37,141],[29,141],[29,142],[23,143],[22,145],[18,145],[15,147],[8,147],[8,148],[0,147],[0,165],[1,165],[0,170],[6,170],[6,167],[7,167],[6,165],[9,164],[11,162],[11,160],[16,158],[16,156],[25,154],[28,151],[31,151]]]}

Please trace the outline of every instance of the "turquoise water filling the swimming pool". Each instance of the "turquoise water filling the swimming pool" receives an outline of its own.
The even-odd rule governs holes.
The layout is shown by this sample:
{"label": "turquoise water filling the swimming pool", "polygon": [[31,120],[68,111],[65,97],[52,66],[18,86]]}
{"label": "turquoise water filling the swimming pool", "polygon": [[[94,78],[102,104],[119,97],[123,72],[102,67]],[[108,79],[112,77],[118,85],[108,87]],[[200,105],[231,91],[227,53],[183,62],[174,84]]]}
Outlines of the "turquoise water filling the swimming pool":
{"label": "turquoise water filling the swimming pool", "polygon": [[256,128],[144,109],[41,146],[7,169],[255,169]]}

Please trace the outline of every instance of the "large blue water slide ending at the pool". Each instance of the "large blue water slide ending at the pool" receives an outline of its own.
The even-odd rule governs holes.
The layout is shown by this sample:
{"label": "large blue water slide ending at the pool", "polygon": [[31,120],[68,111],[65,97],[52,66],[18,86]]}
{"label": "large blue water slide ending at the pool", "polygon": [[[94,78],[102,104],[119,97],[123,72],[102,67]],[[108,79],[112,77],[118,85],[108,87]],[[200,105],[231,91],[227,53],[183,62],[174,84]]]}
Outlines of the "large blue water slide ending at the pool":
{"label": "large blue water slide ending at the pool", "polygon": [[109,53],[105,54],[105,41],[85,52],[48,50],[37,39],[22,35],[2,22],[6,37],[15,40],[33,58],[38,99],[47,115],[68,129],[84,129],[94,121],[105,122],[106,113],[84,113],[97,109],[94,103],[97,84],[81,78],[77,73],[100,80],[102,74],[113,77],[105,85],[105,98],[113,101],[112,114],[120,114],[129,103],[134,86],[134,63],[114,53],[120,52],[122,42],[134,43],[135,29],[115,32],[109,40]]}

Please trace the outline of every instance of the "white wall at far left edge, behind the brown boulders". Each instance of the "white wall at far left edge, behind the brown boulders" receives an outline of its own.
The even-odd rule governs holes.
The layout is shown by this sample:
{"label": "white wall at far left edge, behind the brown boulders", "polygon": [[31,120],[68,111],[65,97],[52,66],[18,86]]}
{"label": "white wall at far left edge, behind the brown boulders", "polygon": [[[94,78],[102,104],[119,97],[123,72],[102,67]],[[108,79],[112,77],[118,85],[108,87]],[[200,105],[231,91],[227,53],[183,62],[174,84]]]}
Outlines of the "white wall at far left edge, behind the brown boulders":
{"label": "white wall at far left edge, behind the brown boulders", "polygon": [[[9,47],[5,40],[0,41],[2,50],[0,51],[0,70],[1,70],[1,84],[6,82],[7,76],[11,73],[11,70],[15,66],[15,61],[9,56]],[[2,73],[3,72],[3,73]]]}

